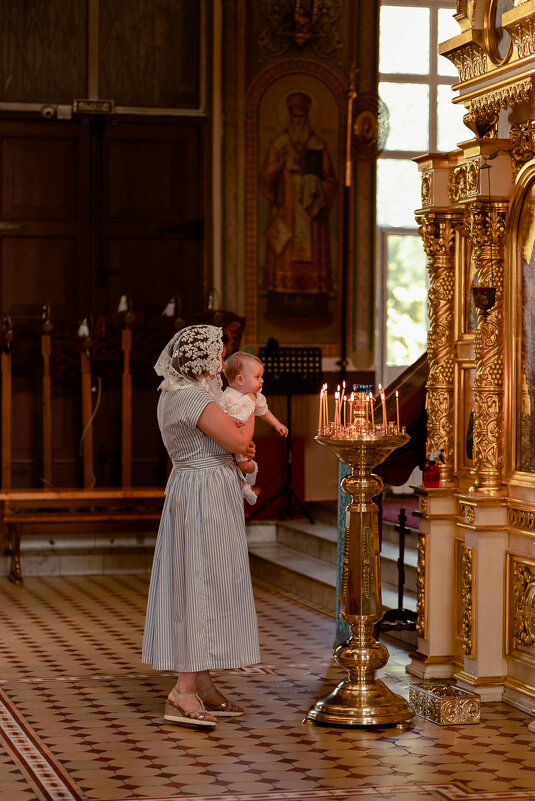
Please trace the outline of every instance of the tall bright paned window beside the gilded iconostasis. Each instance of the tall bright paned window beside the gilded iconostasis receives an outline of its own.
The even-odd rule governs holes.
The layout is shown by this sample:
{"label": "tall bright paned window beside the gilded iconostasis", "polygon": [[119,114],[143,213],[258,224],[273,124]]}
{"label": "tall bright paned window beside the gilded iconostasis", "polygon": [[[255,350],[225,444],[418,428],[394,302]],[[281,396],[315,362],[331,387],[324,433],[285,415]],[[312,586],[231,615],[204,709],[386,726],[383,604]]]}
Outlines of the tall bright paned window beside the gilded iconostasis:
{"label": "tall bright paned window beside the gilded iconostasis", "polygon": [[379,95],[390,134],[377,162],[378,372],[388,385],[427,347],[426,256],[414,211],[420,175],[411,160],[470,138],[454,106],[457,72],[439,42],[460,33],[455,0],[384,0],[379,26]]}

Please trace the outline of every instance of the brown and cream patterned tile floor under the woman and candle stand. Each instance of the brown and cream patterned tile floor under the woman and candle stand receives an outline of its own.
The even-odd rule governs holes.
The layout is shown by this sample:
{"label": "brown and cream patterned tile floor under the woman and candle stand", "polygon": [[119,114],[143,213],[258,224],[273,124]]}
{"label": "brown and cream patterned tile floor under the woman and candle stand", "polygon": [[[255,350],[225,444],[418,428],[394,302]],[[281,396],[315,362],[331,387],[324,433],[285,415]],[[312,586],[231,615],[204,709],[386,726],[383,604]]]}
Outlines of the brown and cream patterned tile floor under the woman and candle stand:
{"label": "brown and cream patterned tile floor under the woman and candle stand", "polygon": [[[255,587],[260,666],[218,681],[246,714],[213,732],[162,721],[171,674],[142,665],[144,576],[0,579],[1,801],[535,801],[530,719],[408,731],[304,722],[342,675],[334,621]],[[407,654],[383,672],[408,693]]]}

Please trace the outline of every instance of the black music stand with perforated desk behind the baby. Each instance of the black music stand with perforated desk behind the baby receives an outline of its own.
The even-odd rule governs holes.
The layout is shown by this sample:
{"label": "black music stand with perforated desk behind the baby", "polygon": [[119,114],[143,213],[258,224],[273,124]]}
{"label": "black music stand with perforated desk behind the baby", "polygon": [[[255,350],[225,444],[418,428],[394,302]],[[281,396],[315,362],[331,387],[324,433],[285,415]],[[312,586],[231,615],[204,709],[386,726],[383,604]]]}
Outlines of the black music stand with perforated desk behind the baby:
{"label": "black music stand with perforated desk behind the baby", "polygon": [[264,390],[267,395],[286,395],[288,436],[286,438],[286,485],[263,503],[247,519],[251,520],[281,497],[286,498],[286,511],[280,519],[292,516],[292,502],[308,520],[314,520],[293,486],[292,395],[314,395],[319,392],[323,374],[321,348],[260,348],[258,358],[264,364]]}

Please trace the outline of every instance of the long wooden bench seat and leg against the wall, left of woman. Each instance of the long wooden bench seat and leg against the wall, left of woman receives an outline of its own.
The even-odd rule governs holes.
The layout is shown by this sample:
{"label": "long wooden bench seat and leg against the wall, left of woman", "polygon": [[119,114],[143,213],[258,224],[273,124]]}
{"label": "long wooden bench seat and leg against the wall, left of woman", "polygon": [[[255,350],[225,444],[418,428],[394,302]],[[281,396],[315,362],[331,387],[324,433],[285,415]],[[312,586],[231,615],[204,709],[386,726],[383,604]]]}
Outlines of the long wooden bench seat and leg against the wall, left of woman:
{"label": "long wooden bench seat and leg against the wall, left of woman", "polygon": [[4,554],[10,581],[22,584],[20,541],[29,524],[114,523],[160,519],[165,490],[156,487],[0,490]]}

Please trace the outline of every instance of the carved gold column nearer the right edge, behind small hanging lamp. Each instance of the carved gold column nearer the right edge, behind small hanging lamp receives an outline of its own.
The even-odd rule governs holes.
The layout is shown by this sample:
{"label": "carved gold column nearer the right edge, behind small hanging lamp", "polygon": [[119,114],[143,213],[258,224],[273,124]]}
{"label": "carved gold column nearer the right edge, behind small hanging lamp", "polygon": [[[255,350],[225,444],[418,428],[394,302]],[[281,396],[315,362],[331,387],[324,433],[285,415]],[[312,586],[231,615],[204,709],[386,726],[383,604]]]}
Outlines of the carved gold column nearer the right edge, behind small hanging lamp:
{"label": "carved gold column nearer the right edge, behind small hanging lamp", "polygon": [[477,311],[474,349],[474,482],[478,492],[496,494],[503,472],[503,263],[508,206],[477,200],[470,204],[467,226],[480,286],[496,288],[488,312]]}

